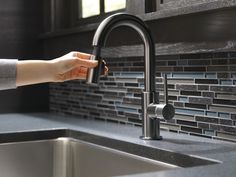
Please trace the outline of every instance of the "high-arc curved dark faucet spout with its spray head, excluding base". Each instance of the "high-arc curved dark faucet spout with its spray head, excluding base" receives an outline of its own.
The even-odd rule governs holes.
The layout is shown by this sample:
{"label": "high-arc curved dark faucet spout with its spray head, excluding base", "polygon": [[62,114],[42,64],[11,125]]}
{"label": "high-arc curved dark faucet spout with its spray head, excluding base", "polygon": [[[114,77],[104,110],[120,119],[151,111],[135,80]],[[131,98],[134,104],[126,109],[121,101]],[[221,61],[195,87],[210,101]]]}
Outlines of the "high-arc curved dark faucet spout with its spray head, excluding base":
{"label": "high-arc curved dark faucet spout with its spray head, excluding base", "polygon": [[[137,31],[144,41],[144,56],[145,56],[145,75],[144,75],[144,91],[155,91],[155,45],[151,32],[147,25],[138,17],[119,13],[106,18],[98,27],[93,38],[93,60],[99,60],[101,64],[101,48],[105,46],[107,37],[110,32],[119,26],[128,26]],[[97,83],[101,75],[102,67],[97,70],[91,70],[88,74],[88,83]],[[150,82],[151,81],[151,82]]]}

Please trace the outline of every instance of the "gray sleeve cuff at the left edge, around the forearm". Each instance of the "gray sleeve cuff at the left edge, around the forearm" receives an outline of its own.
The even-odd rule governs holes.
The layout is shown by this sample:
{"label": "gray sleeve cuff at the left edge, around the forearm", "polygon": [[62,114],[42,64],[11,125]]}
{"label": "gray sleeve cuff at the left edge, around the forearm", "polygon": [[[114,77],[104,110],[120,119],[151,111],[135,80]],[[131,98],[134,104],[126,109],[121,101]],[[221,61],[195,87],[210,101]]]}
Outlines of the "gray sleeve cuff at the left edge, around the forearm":
{"label": "gray sleeve cuff at the left edge, around the forearm", "polygon": [[16,88],[16,59],[0,59],[0,90]]}

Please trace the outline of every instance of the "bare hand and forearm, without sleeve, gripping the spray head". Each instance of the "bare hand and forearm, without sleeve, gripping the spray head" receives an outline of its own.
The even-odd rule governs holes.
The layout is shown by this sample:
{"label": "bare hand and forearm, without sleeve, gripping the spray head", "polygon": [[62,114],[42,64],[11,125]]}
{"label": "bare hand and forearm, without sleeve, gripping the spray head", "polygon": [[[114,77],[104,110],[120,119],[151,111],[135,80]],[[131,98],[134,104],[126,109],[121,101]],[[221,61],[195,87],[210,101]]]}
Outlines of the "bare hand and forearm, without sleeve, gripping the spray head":
{"label": "bare hand and forearm, without sleeve, gripping the spray head", "polygon": [[[86,53],[70,52],[49,61],[18,61],[16,86],[86,79],[87,70],[98,64],[97,61],[89,60],[90,56]],[[107,72],[108,68],[105,67],[104,74],[106,75]]]}

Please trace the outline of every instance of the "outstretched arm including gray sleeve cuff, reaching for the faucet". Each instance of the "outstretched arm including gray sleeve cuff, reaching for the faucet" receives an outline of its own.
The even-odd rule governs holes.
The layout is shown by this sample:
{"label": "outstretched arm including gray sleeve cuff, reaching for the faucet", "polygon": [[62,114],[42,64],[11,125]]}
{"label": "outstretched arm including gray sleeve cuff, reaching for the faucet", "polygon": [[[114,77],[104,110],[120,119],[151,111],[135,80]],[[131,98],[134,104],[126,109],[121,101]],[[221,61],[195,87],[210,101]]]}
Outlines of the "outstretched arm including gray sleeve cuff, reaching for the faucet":
{"label": "outstretched arm including gray sleeve cuff, reaching for the faucet", "polygon": [[89,54],[70,52],[49,61],[14,60],[11,62],[4,60],[2,69],[0,68],[0,76],[2,76],[0,90],[45,82],[86,79],[87,70],[97,66],[97,61],[89,60],[89,58]]}

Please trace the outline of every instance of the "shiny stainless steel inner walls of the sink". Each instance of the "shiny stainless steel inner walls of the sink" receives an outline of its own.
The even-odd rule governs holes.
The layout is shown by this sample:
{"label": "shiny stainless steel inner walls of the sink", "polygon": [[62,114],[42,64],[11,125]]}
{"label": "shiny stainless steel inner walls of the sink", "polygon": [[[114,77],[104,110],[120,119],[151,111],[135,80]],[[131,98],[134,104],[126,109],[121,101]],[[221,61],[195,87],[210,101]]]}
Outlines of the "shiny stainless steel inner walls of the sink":
{"label": "shiny stainless steel inner walls of the sink", "polygon": [[173,168],[177,166],[72,138],[0,145],[2,177],[108,177]]}

